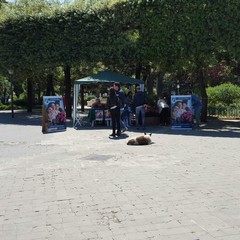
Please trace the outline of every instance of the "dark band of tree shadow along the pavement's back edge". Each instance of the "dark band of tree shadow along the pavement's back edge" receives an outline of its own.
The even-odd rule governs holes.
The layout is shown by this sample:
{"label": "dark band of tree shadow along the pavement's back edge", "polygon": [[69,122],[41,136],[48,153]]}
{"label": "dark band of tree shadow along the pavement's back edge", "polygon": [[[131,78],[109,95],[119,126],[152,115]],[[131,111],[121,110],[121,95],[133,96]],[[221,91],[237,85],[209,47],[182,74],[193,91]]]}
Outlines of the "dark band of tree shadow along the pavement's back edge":
{"label": "dark band of tree shadow along the pavement's back edge", "polygon": [[[32,113],[27,113],[26,110],[15,110],[14,118],[12,118],[11,111],[0,111],[0,124],[12,125],[42,125],[41,109],[34,110]],[[67,127],[72,128],[72,120],[68,120]],[[91,127],[90,124],[78,127],[76,130],[96,130],[96,129],[109,129],[111,128],[104,125],[97,125]],[[240,120],[223,120],[218,118],[209,118],[207,123],[201,124],[198,129],[192,130],[172,130],[170,126],[163,127],[160,125],[149,126],[146,130],[137,130],[135,127],[129,128],[121,138],[127,138],[128,133],[135,132],[142,134],[168,134],[168,135],[184,135],[184,136],[199,136],[199,137],[227,137],[227,138],[240,138]],[[120,139],[121,139],[120,138]],[[116,139],[117,140],[117,139]]]}

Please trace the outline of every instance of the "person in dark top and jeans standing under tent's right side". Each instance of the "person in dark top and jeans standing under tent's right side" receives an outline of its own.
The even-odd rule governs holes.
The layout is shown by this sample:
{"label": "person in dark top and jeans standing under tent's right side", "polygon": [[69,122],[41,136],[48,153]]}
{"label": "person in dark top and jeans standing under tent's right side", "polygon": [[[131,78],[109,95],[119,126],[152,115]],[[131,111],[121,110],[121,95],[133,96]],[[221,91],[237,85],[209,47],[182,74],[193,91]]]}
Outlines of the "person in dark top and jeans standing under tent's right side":
{"label": "person in dark top and jeans standing under tent's right side", "polygon": [[147,104],[146,94],[141,91],[140,86],[136,87],[136,93],[133,97],[133,103],[136,112],[136,127],[139,129],[139,117],[141,115],[142,129],[145,130],[145,107]]}

